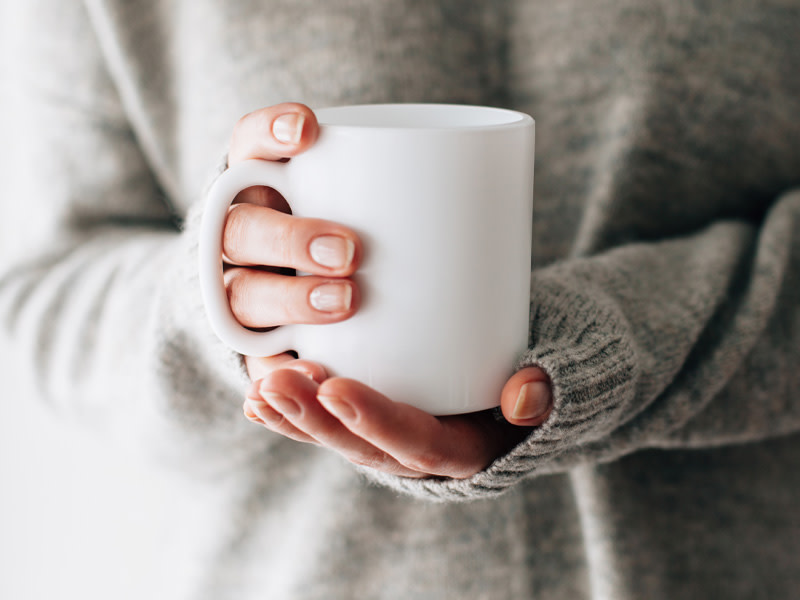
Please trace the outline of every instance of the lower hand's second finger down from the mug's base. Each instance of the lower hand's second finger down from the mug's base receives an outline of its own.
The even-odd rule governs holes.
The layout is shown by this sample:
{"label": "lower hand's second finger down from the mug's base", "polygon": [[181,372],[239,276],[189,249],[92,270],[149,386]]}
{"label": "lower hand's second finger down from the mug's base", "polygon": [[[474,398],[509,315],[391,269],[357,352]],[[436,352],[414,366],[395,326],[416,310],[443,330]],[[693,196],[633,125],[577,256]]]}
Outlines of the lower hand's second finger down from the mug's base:
{"label": "lower hand's second finger down from the mug's base", "polygon": [[424,477],[354,435],[317,400],[319,386],[299,373],[280,369],[261,381],[259,392],[296,430],[342,454],[350,462],[403,477]]}

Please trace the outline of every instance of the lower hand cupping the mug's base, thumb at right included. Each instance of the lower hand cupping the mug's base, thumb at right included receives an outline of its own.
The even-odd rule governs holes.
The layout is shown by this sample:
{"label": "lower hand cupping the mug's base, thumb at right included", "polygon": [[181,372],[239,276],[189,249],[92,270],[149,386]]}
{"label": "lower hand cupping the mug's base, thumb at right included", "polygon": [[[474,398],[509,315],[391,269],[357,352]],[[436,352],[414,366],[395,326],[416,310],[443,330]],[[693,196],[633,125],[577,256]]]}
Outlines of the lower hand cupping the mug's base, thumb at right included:
{"label": "lower hand cupping the mug's base, thumb at right included", "polygon": [[521,442],[552,408],[550,382],[536,367],[506,383],[502,423],[491,411],[433,417],[352,379],[327,378],[310,361],[248,358],[247,365],[254,380],[244,404],[248,419],[404,477],[470,477]]}

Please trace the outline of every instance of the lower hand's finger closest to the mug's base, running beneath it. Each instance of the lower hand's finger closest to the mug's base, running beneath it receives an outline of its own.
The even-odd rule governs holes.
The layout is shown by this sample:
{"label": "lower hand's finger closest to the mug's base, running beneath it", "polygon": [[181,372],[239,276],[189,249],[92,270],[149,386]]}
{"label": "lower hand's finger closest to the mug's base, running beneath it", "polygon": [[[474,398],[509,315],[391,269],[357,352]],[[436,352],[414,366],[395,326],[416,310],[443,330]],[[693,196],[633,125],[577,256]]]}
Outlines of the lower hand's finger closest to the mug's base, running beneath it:
{"label": "lower hand's finger closest to the mug's base, running beneath it", "polygon": [[474,416],[437,419],[342,378],[326,380],[318,399],[355,435],[412,471],[461,479],[497,454],[496,440]]}

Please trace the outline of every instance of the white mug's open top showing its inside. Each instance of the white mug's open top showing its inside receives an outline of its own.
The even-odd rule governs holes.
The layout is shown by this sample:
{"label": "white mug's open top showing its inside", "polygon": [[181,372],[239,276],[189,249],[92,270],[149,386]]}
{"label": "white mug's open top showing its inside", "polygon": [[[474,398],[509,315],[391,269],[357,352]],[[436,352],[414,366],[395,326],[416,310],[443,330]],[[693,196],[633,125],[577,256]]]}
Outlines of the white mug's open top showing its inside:
{"label": "white mug's open top showing its inside", "polygon": [[513,110],[461,104],[365,104],[315,114],[322,125],[392,129],[494,128],[530,119]]}

